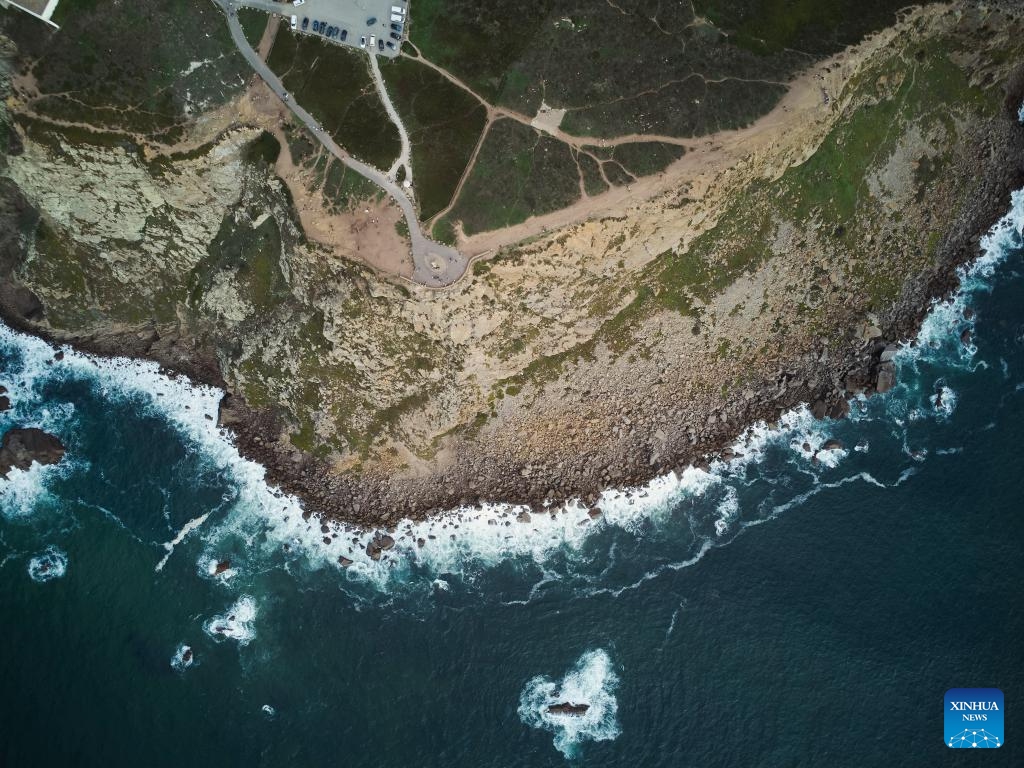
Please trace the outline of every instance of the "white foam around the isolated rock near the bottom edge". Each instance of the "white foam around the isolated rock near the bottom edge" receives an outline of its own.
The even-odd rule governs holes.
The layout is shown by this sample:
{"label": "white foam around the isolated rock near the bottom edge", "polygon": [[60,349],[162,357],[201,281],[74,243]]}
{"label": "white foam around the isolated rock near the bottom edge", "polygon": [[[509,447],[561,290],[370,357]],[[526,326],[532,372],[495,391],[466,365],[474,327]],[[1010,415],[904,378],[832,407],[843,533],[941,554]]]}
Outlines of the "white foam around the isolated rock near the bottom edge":
{"label": "white foam around the isolated rock near the bottom edge", "polygon": [[[566,758],[579,754],[584,741],[609,741],[620,733],[618,676],[607,652],[590,650],[561,680],[541,675],[529,680],[519,695],[519,719],[530,728],[551,731],[554,744]],[[555,714],[560,703],[586,705],[582,715]]]}

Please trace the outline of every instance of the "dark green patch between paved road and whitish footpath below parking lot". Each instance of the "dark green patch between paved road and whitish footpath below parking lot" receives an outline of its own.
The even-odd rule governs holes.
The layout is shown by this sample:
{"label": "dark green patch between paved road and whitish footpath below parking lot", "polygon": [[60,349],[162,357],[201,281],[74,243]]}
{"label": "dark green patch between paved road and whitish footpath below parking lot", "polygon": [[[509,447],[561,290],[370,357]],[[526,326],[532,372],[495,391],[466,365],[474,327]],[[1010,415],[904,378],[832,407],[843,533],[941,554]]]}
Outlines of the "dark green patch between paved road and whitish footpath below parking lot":
{"label": "dark green patch between paved road and whitish footpath below parking lot", "polygon": [[282,29],[267,60],[298,103],[354,157],[389,168],[401,150],[366,54]]}

